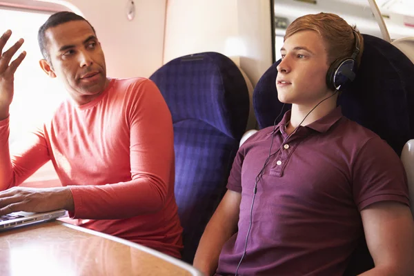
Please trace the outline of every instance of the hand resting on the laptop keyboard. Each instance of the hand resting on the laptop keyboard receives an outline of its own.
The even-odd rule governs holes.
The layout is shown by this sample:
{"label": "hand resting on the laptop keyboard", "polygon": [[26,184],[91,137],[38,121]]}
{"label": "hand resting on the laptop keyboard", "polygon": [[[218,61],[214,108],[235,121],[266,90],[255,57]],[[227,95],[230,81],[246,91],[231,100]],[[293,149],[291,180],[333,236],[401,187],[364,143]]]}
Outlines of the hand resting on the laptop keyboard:
{"label": "hand resting on the laptop keyboard", "polygon": [[58,209],[75,209],[70,188],[14,187],[0,192],[0,215],[18,211],[41,213]]}

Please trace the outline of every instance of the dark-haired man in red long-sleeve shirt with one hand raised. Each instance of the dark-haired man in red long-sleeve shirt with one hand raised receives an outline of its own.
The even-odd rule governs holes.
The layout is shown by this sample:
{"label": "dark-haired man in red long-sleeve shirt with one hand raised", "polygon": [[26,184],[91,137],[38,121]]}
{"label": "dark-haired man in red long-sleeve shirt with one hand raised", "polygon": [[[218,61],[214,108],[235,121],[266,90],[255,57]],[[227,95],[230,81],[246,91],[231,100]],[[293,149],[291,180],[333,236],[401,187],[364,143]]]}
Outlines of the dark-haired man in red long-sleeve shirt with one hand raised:
{"label": "dark-haired man in red long-sleeve shirt with one hand raised", "polygon": [[[0,52],[10,35],[0,38]],[[155,83],[108,78],[90,23],[52,14],[39,30],[40,64],[70,97],[10,154],[13,75],[25,53],[10,60],[22,43],[0,59],[0,215],[62,208],[81,226],[180,257],[172,118]],[[48,160],[63,187],[15,187]]]}

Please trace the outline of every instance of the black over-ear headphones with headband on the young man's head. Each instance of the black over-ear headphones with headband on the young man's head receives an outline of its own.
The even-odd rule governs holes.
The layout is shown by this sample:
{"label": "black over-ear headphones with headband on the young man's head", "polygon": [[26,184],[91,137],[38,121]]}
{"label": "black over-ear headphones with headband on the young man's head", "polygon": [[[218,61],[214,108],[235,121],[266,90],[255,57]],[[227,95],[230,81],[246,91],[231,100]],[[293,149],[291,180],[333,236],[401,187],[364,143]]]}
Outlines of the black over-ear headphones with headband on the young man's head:
{"label": "black over-ear headphones with headband on the young man's head", "polygon": [[355,49],[351,57],[345,57],[333,61],[326,74],[326,84],[331,90],[341,90],[348,83],[355,79],[357,71],[357,57],[359,55],[359,36],[353,30],[355,37]]}

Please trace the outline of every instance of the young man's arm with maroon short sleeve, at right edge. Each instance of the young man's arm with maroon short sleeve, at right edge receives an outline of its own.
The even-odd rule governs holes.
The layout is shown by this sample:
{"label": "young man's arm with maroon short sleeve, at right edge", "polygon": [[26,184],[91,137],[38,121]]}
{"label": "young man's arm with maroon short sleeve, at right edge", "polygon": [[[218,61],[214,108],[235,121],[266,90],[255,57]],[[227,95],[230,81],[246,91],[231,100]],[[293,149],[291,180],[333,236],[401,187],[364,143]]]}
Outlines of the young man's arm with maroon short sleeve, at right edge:
{"label": "young man's arm with maroon short sleeve, at right edge", "polygon": [[414,221],[406,174],[400,158],[380,137],[359,150],[353,195],[375,263],[362,275],[414,275]]}

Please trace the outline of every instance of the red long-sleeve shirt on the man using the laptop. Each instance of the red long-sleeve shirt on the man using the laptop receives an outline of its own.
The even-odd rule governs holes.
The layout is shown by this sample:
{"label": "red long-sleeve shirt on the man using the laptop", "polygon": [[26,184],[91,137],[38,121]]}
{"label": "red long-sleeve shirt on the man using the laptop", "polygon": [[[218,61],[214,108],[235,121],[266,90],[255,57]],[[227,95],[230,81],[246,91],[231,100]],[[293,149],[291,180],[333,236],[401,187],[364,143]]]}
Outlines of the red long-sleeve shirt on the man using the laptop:
{"label": "red long-sleeve shirt on the man using the laptop", "polygon": [[172,120],[152,81],[111,79],[89,103],[64,101],[50,122],[22,137],[11,158],[8,135],[5,119],[0,190],[18,186],[51,159],[72,191],[70,216],[81,226],[180,257]]}

